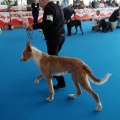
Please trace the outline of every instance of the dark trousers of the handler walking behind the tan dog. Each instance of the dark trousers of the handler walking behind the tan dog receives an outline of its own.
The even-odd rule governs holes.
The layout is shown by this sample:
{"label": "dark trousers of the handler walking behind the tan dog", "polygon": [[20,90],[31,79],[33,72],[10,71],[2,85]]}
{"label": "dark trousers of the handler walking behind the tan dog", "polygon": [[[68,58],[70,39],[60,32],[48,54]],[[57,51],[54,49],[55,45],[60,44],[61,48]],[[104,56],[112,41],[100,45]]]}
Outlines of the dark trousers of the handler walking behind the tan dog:
{"label": "dark trousers of the handler walking behind the tan dog", "polygon": [[[65,35],[47,39],[46,44],[47,44],[48,54],[58,56],[58,53],[61,50],[64,41],[65,41]],[[57,79],[58,84],[61,84],[61,85],[65,84],[65,80],[62,75],[54,76],[54,77]]]}

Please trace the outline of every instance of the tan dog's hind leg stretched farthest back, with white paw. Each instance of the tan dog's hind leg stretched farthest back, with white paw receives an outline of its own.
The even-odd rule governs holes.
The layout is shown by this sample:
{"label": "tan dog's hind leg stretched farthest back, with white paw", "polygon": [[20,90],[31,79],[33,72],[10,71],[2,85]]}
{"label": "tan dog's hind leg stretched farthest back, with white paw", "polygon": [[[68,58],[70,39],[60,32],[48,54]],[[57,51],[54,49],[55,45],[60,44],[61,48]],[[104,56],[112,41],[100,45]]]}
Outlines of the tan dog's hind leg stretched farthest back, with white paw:
{"label": "tan dog's hind leg stretched farthest back, with white paw", "polygon": [[93,98],[95,99],[95,101],[97,102],[97,107],[96,107],[96,111],[100,111],[102,110],[102,104],[100,102],[100,99],[98,97],[98,95],[92,90],[90,83],[88,81],[87,77],[83,77],[82,81],[80,82],[81,86],[87,91],[89,92]]}

